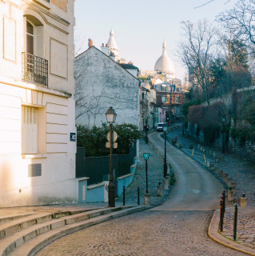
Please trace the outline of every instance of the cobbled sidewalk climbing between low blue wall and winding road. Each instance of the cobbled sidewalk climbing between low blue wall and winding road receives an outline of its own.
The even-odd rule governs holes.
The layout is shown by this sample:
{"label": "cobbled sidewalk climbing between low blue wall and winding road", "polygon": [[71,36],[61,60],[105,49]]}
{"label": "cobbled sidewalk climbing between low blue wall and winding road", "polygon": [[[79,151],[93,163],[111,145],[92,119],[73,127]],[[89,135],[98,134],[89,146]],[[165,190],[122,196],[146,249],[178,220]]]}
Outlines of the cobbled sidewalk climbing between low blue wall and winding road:
{"label": "cobbled sidewalk climbing between low blue wall and winding road", "polygon": [[[137,203],[137,187],[140,187],[140,204],[144,203],[144,194],[146,192],[146,173],[144,153],[149,153],[148,160],[148,190],[150,200],[153,204],[161,201],[162,197],[157,197],[157,185],[161,182],[163,185],[163,161],[152,150],[145,140],[141,139],[139,142],[139,162],[134,174],[133,182],[126,188],[126,203]],[[117,202],[122,202],[123,197],[116,198]]]}

